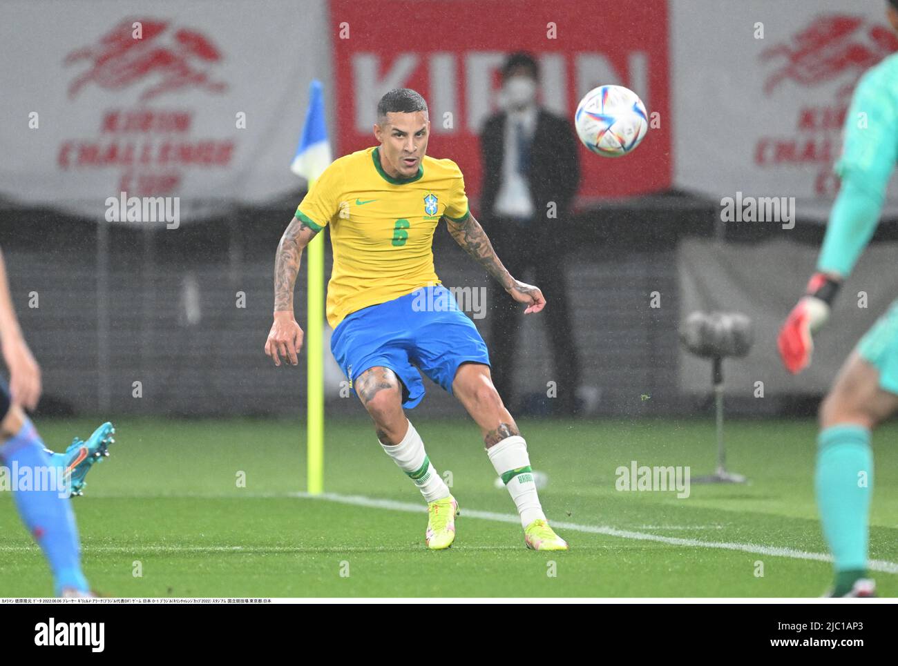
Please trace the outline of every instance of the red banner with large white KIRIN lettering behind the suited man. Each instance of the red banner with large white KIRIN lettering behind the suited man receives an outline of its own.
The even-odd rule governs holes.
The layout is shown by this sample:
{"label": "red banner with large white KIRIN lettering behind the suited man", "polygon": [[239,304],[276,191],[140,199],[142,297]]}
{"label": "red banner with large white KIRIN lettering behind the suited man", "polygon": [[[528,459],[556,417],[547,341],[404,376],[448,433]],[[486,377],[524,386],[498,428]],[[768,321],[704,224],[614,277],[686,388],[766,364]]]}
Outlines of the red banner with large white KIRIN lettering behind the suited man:
{"label": "red banner with large white KIRIN lettering behind the suited man", "polygon": [[[497,110],[499,68],[516,50],[541,65],[544,105],[568,118],[604,83],[637,92],[660,127],[625,159],[581,146],[582,199],[627,197],[671,185],[666,0],[589,3],[544,0],[420,2],[331,0],[338,154],[374,145],[377,101],[392,88],[427,100],[427,153],[457,162],[471,197],[480,193],[479,133]],[[476,207],[475,207],[476,210]]]}

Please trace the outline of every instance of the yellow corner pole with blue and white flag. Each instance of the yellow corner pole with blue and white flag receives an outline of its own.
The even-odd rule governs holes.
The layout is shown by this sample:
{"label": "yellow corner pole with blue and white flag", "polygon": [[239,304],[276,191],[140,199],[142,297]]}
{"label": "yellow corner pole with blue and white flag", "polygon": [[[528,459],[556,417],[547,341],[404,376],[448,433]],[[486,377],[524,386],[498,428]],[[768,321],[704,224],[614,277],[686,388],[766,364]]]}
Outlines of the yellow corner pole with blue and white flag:
{"label": "yellow corner pole with blue and white flag", "polygon": [[[328,131],[324,122],[324,98],[321,82],[309,86],[309,107],[305,112],[303,134],[296,146],[290,170],[308,181],[309,189],[331,162]],[[324,492],[324,234],[313,238],[306,247],[306,491]]]}

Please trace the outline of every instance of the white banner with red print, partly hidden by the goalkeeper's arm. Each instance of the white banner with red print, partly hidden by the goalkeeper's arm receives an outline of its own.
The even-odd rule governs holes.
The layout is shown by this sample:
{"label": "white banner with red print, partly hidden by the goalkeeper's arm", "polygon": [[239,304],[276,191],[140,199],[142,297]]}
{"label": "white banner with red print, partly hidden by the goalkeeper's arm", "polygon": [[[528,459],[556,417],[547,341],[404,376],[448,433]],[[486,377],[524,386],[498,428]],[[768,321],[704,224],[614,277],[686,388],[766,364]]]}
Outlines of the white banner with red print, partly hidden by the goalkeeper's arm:
{"label": "white banner with red print, partly hidden by the goalkeeper's arm", "polygon": [[851,92],[898,49],[885,8],[672,0],[676,186],[715,198],[796,197],[798,215],[826,215]]}

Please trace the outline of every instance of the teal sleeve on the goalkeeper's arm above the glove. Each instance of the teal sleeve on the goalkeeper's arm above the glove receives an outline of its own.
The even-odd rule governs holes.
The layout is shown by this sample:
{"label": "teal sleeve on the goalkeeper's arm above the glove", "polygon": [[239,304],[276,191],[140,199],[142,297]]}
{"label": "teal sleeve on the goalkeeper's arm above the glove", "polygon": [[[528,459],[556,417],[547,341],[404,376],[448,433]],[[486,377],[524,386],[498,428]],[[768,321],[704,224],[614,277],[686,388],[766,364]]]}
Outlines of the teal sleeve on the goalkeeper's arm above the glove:
{"label": "teal sleeve on the goalkeeper's arm above the glove", "polygon": [[898,54],[871,67],[855,89],[845,117],[842,155],[835,165],[841,188],[830,212],[817,270],[850,275],[876,231],[896,157]]}

